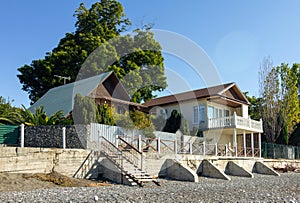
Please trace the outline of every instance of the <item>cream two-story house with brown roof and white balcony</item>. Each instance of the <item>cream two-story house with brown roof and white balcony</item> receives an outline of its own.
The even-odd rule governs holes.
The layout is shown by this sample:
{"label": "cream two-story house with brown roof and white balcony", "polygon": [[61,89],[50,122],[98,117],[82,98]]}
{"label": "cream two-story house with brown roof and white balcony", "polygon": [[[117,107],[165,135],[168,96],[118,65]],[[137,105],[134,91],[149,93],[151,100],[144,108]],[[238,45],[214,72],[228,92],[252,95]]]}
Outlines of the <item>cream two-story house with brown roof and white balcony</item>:
{"label": "cream two-story house with brown roof and white balcony", "polygon": [[235,83],[164,96],[144,105],[155,115],[182,113],[190,130],[198,129],[208,144],[226,145],[236,156],[259,156],[262,121],[249,117],[250,103]]}

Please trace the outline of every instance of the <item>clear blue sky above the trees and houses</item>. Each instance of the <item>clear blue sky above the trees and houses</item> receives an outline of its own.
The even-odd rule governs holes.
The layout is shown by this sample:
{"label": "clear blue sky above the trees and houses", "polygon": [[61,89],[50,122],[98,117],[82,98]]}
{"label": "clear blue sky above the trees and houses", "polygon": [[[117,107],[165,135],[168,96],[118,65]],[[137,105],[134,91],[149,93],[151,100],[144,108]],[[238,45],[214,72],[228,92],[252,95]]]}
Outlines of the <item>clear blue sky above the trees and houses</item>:
{"label": "clear blue sky above the trees and houses", "polygon": [[[17,68],[43,58],[74,31],[73,14],[81,2],[3,1],[0,22],[0,96],[13,105],[29,106],[21,90]],[[298,0],[121,0],[133,28],[154,23],[155,29],[181,34],[198,44],[211,58],[223,83],[236,82],[242,91],[258,96],[258,71],[264,57],[274,65],[300,62],[300,1]],[[164,47],[163,47],[164,48]],[[186,64],[165,55],[166,67],[191,81]],[[180,90],[179,90],[180,91]]]}

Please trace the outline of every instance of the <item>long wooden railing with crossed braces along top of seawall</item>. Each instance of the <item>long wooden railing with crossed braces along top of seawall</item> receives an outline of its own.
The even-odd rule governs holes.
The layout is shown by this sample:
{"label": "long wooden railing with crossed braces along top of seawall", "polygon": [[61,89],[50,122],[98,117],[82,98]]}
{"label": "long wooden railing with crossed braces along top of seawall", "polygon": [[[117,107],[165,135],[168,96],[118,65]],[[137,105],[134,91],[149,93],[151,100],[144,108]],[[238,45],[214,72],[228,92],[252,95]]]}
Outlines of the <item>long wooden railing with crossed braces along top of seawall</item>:
{"label": "long wooden railing with crossed braces along top of seawall", "polygon": [[[230,148],[227,144],[213,144],[206,142],[193,142],[192,140],[163,140],[160,138],[132,138],[119,136],[119,149],[126,153],[126,157],[135,165],[142,165],[138,157],[142,157],[142,152],[147,153],[174,153],[174,154],[192,154],[192,155],[208,155],[208,156],[228,156],[228,157],[244,157],[244,149],[234,147]],[[125,140],[126,139],[126,140]],[[133,143],[133,144],[131,144]],[[126,149],[131,149],[127,150]],[[252,157],[252,149],[246,149],[246,156]],[[259,157],[259,149],[255,148],[254,156]]]}

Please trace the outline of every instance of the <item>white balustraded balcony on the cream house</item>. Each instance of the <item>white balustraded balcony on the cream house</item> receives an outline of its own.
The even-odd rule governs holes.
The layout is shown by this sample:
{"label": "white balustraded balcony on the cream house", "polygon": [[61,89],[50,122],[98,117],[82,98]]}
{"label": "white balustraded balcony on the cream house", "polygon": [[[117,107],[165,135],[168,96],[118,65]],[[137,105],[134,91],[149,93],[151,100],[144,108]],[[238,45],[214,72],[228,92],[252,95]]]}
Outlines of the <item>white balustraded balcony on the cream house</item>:
{"label": "white balustraded balcony on the cream house", "polygon": [[256,121],[251,118],[244,118],[237,116],[236,113],[228,117],[209,118],[208,129],[216,128],[237,128],[260,133],[263,132],[262,120]]}

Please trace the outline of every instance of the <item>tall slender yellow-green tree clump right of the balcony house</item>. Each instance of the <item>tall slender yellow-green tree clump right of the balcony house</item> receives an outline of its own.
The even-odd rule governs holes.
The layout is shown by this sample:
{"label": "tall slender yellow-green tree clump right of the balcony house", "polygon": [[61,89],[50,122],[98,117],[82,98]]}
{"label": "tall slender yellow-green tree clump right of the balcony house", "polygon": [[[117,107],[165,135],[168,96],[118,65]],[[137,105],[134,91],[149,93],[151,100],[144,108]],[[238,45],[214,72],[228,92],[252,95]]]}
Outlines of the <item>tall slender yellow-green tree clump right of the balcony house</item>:
{"label": "tall slender yellow-green tree clump right of the balcony house", "polygon": [[273,67],[270,58],[263,61],[260,70],[261,114],[267,141],[288,143],[289,136],[300,121],[298,98],[299,65],[289,67],[282,63]]}

